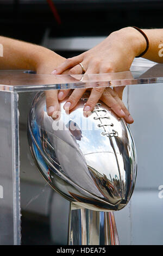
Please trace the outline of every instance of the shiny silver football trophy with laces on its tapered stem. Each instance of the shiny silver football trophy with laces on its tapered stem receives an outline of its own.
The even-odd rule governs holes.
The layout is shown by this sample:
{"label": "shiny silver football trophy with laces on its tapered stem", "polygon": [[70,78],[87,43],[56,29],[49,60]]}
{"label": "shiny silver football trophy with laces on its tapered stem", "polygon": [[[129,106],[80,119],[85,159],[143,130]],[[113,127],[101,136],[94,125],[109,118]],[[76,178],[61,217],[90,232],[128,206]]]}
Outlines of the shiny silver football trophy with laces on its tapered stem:
{"label": "shiny silver football trophy with laces on its tapered stem", "polygon": [[134,190],[135,144],[126,122],[103,102],[83,114],[88,97],[70,113],[60,102],[52,118],[45,94],[37,93],[28,118],[30,151],[43,178],[71,202],[68,245],[118,245],[114,211]]}

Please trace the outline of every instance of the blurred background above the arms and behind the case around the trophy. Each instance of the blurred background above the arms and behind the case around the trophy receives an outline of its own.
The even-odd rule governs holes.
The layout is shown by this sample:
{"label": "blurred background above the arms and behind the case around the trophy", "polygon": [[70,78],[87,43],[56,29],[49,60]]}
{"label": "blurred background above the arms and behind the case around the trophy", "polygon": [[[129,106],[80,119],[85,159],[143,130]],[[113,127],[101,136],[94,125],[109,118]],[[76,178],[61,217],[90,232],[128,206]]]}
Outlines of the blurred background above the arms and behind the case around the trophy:
{"label": "blurred background above the arms and behind the case around the trophy", "polygon": [[[0,0],[1,35],[48,47],[68,58],[123,27],[161,28],[162,10],[163,0]],[[131,132],[139,166],[131,202],[115,214],[121,244],[162,243],[163,199],[158,197],[162,142],[151,136],[153,131],[161,134],[162,93],[154,86],[141,88],[141,94],[135,87],[124,92],[135,120]],[[22,245],[65,245],[69,203],[46,185],[29,153],[27,115],[33,96],[19,97]]]}

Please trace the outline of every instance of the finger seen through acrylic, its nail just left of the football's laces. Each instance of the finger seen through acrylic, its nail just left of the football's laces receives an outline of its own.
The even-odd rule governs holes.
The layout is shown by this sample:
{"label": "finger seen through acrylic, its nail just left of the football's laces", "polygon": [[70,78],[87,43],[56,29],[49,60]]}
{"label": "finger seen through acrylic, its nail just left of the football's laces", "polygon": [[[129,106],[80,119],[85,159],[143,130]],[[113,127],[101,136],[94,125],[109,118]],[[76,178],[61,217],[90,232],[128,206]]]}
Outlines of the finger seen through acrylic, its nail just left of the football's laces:
{"label": "finger seen through acrylic, its nail just left of the football's laces", "polygon": [[90,94],[89,99],[87,100],[83,111],[85,114],[89,114],[94,108],[96,103],[99,101],[101,98],[101,95],[103,94],[105,88],[101,87],[96,87],[93,88]]}

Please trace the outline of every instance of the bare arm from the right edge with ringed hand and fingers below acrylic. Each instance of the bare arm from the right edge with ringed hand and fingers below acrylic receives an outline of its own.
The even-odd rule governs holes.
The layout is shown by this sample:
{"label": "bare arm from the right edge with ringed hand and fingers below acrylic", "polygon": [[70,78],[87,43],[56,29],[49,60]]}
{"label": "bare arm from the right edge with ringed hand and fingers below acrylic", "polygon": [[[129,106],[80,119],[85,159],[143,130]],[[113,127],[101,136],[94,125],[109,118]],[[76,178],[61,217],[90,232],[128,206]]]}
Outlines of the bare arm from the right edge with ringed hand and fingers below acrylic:
{"label": "bare arm from the right edge with ringed hand and fingers below acrylic", "polygon": [[[143,58],[153,60],[154,62],[163,63],[163,57],[159,54],[159,46],[163,42],[163,29],[143,29],[149,40],[149,48]],[[122,28],[119,31],[111,33],[104,41],[95,47],[91,48],[79,56],[67,59],[62,63],[52,74],[61,74],[61,72],[70,69],[70,74],[82,74],[82,68],[79,63],[82,63],[85,74],[121,72],[130,69],[130,66],[135,57],[139,56],[146,50],[147,42],[145,37],[133,27]],[[163,47],[163,45],[162,45]],[[163,54],[162,54],[163,55]],[[116,88],[114,89],[116,90]],[[118,96],[121,97],[123,87],[118,88]],[[64,99],[68,90],[59,92],[60,100]],[[83,92],[82,92],[83,93]],[[99,99],[102,99],[106,105],[111,107],[119,117],[124,117],[128,123],[132,123],[126,108],[122,106],[125,115],[121,115],[120,105],[118,106],[115,100],[111,97],[112,91],[109,88],[94,88],[89,100],[85,104],[85,108],[92,110]],[[69,108],[73,108],[79,98],[79,93],[74,90],[71,96],[67,99]],[[107,97],[105,97],[107,96]],[[129,118],[130,119],[129,119]]]}

